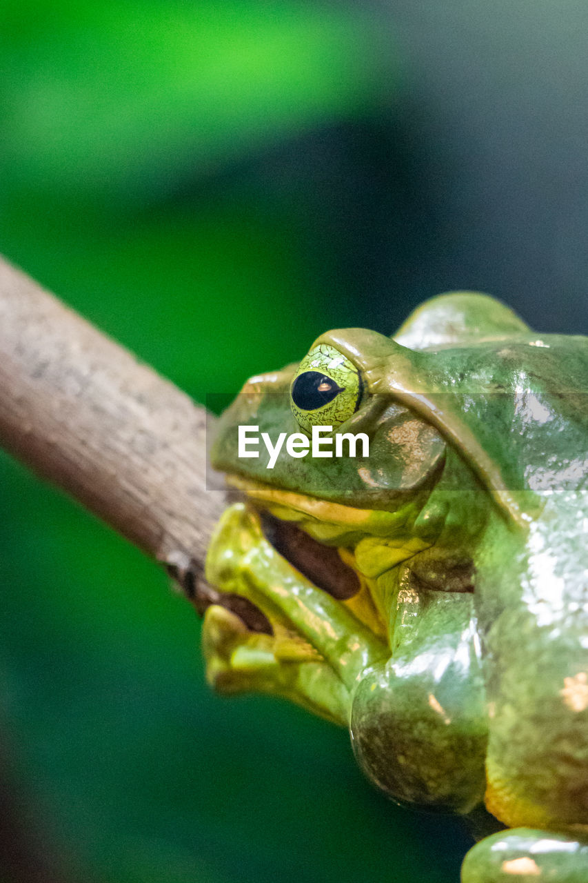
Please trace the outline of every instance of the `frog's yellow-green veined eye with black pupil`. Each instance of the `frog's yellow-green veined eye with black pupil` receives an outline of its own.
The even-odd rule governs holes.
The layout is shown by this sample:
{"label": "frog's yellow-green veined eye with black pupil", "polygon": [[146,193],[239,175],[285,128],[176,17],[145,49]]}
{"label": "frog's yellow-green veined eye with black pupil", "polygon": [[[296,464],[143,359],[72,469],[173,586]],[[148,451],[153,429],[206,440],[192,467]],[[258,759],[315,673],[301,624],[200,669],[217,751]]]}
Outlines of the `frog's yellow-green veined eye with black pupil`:
{"label": "frog's yellow-green veined eye with black pupil", "polygon": [[290,407],[298,425],[341,426],[358,410],[361,375],[358,368],[328,343],[320,343],[298,366],[290,387]]}

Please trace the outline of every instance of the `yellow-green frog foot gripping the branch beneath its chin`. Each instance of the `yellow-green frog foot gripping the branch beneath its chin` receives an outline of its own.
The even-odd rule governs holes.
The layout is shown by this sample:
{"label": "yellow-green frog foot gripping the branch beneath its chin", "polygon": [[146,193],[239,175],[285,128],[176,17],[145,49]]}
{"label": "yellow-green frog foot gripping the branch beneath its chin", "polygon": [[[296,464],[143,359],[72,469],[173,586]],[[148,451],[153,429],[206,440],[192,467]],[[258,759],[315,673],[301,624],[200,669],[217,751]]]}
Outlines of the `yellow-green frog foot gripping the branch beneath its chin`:
{"label": "yellow-green frog foot gripping the branch beneath its chin", "polygon": [[276,550],[259,512],[237,503],[223,514],[207,580],[215,586],[203,632],[209,682],[224,692],[287,696],[346,724],[351,691],[386,647]]}

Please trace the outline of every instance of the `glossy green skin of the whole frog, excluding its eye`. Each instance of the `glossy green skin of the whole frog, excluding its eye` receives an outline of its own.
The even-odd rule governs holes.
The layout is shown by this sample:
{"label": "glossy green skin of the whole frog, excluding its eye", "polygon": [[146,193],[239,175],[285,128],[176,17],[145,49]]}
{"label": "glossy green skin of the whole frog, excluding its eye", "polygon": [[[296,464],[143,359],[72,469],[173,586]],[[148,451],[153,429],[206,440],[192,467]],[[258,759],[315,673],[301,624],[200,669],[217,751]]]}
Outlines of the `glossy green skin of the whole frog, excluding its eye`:
{"label": "glossy green skin of the whole frog, excluding its eye", "polygon": [[[237,458],[239,424],[300,432],[297,366],[254,378],[224,413],[213,464],[257,484],[222,518],[207,578],[274,635],[209,608],[208,680],[349,726],[397,802],[467,814],[484,801],[514,830],[471,850],[464,883],[585,881],[588,339],[538,335],[457,293],[394,339],[351,328],[320,343],[358,367],[364,396],[337,431],[369,434],[370,457]],[[343,550],[361,600],[278,555],[260,509]]]}

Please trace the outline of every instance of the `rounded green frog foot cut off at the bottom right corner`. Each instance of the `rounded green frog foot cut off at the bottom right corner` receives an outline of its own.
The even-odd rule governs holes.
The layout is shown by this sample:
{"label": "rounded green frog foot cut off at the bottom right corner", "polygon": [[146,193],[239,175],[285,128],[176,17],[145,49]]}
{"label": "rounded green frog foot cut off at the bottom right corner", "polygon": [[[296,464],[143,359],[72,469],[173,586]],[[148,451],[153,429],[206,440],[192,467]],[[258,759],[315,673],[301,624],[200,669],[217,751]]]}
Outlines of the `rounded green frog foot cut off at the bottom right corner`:
{"label": "rounded green frog foot cut off at the bottom right corner", "polygon": [[465,857],[462,883],[586,883],[588,840],[513,828],[476,844]]}

